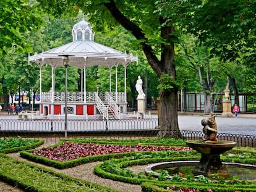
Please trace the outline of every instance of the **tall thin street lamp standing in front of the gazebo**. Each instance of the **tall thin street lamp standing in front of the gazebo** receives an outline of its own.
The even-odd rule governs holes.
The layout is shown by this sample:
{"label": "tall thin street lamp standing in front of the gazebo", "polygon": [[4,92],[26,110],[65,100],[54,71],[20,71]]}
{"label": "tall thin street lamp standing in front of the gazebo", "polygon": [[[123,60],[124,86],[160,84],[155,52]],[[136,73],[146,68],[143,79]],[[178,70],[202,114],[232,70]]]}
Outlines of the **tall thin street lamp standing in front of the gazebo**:
{"label": "tall thin street lamp standing in front of the gazebo", "polygon": [[63,58],[63,65],[65,66],[65,123],[64,123],[64,131],[65,138],[67,137],[67,66],[69,65],[69,57],[72,55],[62,54],[59,57]]}

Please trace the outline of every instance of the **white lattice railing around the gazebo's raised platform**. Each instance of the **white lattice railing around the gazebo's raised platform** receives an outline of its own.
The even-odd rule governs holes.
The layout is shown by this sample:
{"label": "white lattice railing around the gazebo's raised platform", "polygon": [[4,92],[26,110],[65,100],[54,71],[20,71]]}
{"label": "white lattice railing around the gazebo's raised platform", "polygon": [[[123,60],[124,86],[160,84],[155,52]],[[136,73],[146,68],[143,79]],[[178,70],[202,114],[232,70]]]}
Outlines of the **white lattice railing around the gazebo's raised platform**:
{"label": "white lattice railing around the gazebo's raised platform", "polygon": [[[95,92],[87,91],[86,92],[86,102],[96,102],[95,101]],[[126,102],[124,92],[117,93],[109,93],[112,96],[114,101],[117,102]],[[105,99],[105,93],[98,93],[101,101],[107,102]],[[51,102],[52,101],[52,93],[51,91],[42,92],[41,93],[41,102]],[[54,92],[54,101],[53,102],[65,102],[65,92]],[[67,92],[67,102],[84,102],[84,92],[75,91],[75,92]]]}

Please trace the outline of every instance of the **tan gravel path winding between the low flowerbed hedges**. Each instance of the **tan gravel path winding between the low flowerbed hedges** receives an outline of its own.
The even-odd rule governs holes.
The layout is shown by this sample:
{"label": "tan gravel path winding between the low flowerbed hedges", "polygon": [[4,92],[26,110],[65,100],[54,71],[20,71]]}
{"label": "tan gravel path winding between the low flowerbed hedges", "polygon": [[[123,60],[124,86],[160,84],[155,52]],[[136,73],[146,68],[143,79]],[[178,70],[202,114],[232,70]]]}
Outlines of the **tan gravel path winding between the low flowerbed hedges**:
{"label": "tan gravel path winding between the low flowerbed hedges", "polygon": [[[44,144],[44,146],[47,146],[47,144]],[[40,146],[40,148],[42,148],[42,147],[43,146]],[[27,159],[23,159],[22,157],[20,157],[19,152],[11,153],[8,155],[11,157],[14,157],[15,159],[19,159],[21,161],[31,162],[31,161],[28,161]],[[32,163],[35,163],[35,162],[32,162]],[[92,163],[78,165],[76,167],[72,167],[69,169],[63,169],[63,170],[55,169],[53,167],[48,167],[48,166],[42,165],[42,164],[40,164],[40,165],[45,166],[49,169],[53,169],[55,171],[64,173],[66,175],[69,175],[70,177],[76,177],[76,178],[80,178],[82,180],[86,180],[88,182],[98,183],[99,185],[107,186],[109,188],[113,188],[113,189],[119,190],[121,192],[130,192],[130,191],[139,192],[139,191],[141,191],[140,185],[132,185],[132,184],[128,184],[128,183],[116,182],[116,181],[109,180],[106,178],[98,177],[97,175],[95,175],[93,173],[93,167],[95,167],[95,165],[99,164],[99,163],[100,162],[92,162]],[[132,170],[135,173],[139,173],[139,172],[144,171],[145,166],[147,166],[147,165],[129,167],[128,169]],[[10,185],[7,185],[4,182],[0,182],[0,192],[2,192],[2,191],[17,192],[20,190],[12,187]]]}

